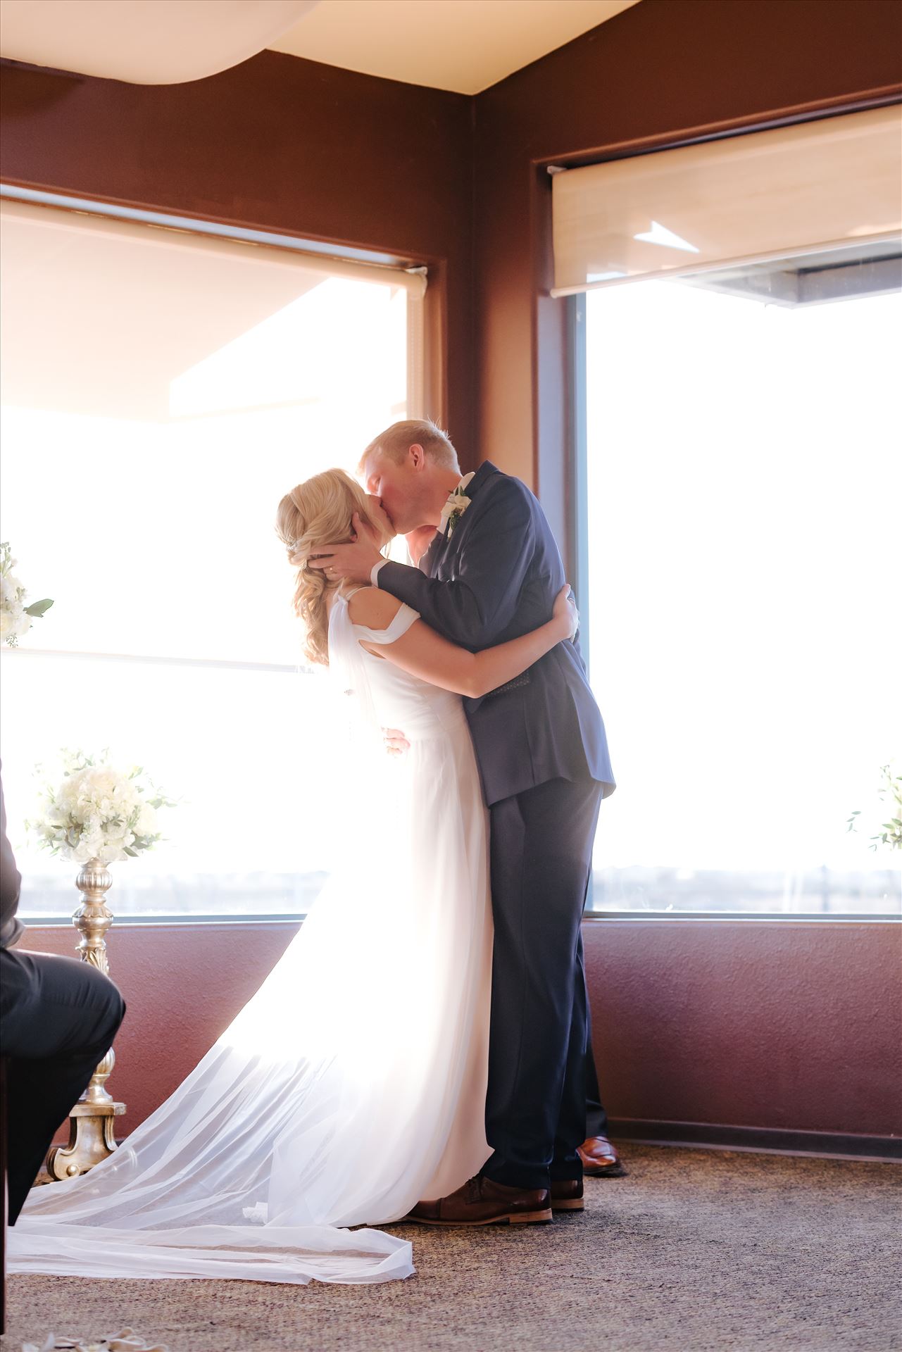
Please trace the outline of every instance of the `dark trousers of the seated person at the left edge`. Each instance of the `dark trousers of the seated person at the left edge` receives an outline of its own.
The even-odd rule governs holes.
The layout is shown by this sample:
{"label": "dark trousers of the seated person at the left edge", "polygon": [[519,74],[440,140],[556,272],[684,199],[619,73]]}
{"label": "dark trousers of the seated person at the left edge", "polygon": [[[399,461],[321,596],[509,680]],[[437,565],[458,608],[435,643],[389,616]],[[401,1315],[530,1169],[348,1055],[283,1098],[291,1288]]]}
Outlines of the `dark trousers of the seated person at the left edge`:
{"label": "dark trousers of the seated person at the left edge", "polygon": [[9,1224],[54,1132],[78,1101],[122,1023],[118,988],[89,963],[0,950],[0,1052],[7,1067]]}

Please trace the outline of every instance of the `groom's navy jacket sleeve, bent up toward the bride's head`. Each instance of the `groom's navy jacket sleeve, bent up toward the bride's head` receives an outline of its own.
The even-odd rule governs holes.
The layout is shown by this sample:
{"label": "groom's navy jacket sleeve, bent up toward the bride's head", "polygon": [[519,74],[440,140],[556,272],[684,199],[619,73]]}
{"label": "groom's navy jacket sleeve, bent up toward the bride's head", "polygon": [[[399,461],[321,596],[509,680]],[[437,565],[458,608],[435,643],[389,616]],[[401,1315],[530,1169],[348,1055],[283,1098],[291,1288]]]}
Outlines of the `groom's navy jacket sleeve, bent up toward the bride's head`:
{"label": "groom's navy jacket sleeve, bent up toward the bride's head", "polygon": [[379,569],[377,583],[445,638],[469,649],[490,648],[517,617],[533,546],[527,491],[511,479],[499,484],[472,523],[453,581],[389,561]]}

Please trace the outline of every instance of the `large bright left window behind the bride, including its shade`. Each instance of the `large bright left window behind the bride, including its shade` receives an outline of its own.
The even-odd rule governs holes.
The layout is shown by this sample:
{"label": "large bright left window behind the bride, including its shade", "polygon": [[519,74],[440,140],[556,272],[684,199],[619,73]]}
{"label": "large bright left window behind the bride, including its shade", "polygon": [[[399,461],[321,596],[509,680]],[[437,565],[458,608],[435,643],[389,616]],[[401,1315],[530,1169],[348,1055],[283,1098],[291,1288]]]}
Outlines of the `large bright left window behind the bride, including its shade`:
{"label": "large bright left window behind the bride, including its shade", "polygon": [[77,902],[76,867],[23,829],[65,746],[180,799],[168,840],[114,865],[116,915],[304,911],[339,829],[275,510],[419,414],[422,277],[20,203],[3,256],[0,538],[54,598],[1,656],[22,913]]}

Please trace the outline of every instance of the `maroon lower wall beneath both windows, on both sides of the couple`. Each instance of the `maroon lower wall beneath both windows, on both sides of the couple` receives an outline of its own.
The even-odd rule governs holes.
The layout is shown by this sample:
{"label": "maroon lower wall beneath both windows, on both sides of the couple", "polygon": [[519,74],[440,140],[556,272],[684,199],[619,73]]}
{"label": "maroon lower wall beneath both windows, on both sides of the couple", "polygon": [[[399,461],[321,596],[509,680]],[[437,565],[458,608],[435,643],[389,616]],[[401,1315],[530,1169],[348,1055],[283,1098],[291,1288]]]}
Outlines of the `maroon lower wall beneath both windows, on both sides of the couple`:
{"label": "maroon lower wall beneath both windows, on both sides of the couple", "polygon": [[[128,1005],[110,1090],[134,1129],[296,933],[114,925]],[[595,1052],[615,1118],[902,1136],[902,932],[890,923],[587,921]],[[27,945],[72,953],[70,929]]]}

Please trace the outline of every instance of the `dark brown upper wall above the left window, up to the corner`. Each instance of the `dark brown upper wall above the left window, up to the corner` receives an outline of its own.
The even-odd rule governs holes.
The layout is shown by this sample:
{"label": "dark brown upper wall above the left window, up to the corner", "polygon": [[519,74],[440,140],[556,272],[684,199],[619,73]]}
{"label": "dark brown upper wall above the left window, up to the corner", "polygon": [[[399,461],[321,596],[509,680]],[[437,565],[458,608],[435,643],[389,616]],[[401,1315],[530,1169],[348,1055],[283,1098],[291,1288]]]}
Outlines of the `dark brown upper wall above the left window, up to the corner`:
{"label": "dark brown upper wall above the left window, up to the corner", "polygon": [[4,181],[426,262],[427,407],[472,460],[471,99],[277,51],[179,85],[7,68]]}

